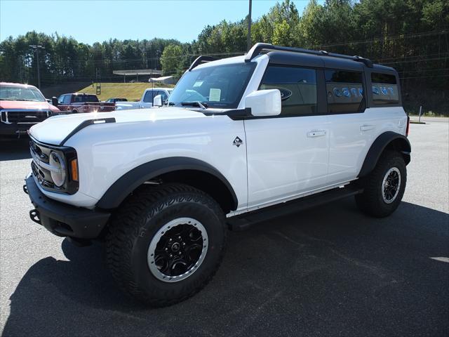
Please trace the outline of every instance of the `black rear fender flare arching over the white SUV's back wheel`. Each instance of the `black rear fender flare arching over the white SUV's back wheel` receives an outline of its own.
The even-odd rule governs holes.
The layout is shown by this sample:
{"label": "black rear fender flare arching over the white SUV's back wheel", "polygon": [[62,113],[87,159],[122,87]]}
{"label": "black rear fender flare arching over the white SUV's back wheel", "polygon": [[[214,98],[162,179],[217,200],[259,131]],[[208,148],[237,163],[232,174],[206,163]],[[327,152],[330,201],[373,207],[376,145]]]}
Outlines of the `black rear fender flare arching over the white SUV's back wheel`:
{"label": "black rear fender flare arching over the white SUV's back wheel", "polygon": [[410,163],[410,152],[412,152],[412,147],[410,145],[410,142],[408,141],[408,138],[401,135],[401,133],[387,131],[377,137],[371,145],[357,177],[362,178],[373,171],[377,164],[377,161],[382,155],[382,152],[384,152],[384,150],[389,146],[393,146],[395,150],[401,151],[404,160],[406,161],[406,165]]}

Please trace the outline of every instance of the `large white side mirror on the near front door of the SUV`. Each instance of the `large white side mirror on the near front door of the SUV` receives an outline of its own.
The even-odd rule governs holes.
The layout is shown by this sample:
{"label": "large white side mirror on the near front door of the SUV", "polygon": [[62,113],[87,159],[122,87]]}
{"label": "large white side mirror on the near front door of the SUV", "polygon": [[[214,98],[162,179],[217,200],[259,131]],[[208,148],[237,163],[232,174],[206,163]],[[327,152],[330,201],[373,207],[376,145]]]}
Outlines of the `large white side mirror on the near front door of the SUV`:
{"label": "large white side mirror on the near front door of the SUV", "polygon": [[253,91],[246,96],[245,107],[251,108],[253,116],[277,116],[281,113],[281,91],[278,89]]}

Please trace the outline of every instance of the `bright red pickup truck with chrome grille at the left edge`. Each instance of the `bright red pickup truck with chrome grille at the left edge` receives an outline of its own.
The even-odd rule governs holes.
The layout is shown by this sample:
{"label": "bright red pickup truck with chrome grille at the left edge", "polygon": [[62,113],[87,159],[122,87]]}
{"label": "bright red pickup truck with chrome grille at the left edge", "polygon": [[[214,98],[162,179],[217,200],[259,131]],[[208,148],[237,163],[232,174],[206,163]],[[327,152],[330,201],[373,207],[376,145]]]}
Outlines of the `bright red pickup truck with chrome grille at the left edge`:
{"label": "bright red pickup truck with chrome grille at the left edge", "polygon": [[60,114],[35,86],[0,82],[0,137],[20,137],[34,124]]}

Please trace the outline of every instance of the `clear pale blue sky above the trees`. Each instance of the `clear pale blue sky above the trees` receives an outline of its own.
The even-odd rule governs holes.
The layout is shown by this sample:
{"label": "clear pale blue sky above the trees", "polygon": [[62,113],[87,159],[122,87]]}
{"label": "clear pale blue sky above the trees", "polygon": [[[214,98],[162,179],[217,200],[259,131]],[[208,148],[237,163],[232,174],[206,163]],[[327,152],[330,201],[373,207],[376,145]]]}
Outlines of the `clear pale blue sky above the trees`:
{"label": "clear pale blue sky above the trees", "polygon": [[[300,13],[308,0],[293,1]],[[276,0],[253,0],[253,20]],[[88,44],[116,39],[196,39],[201,29],[248,13],[248,0],[20,1],[0,0],[0,41],[36,30]]]}

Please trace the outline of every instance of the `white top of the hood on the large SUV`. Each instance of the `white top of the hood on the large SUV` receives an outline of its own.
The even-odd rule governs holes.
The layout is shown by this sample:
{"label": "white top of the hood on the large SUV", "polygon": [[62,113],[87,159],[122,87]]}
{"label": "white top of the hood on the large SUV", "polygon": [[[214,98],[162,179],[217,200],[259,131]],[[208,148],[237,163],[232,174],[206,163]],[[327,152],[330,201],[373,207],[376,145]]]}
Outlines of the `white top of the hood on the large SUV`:
{"label": "white top of the hood on the large SUV", "polygon": [[32,128],[29,129],[29,134],[41,143],[60,145],[62,140],[69,136],[77,126],[89,119],[114,118],[116,123],[131,123],[138,121],[152,121],[154,123],[170,119],[199,117],[204,117],[204,114],[179,107],[153,107],[139,110],[92,112],[90,114],[62,114],[50,117],[45,121],[32,126]]}

